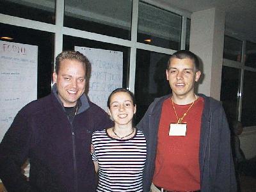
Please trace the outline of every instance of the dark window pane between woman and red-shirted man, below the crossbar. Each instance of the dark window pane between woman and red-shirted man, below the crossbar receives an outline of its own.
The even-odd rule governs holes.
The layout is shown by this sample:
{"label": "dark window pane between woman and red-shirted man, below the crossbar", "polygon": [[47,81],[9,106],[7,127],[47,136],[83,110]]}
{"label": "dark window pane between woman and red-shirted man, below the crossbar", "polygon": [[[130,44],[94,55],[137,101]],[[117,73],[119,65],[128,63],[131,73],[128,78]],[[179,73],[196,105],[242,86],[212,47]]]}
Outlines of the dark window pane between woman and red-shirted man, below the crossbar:
{"label": "dark window pane between woman and red-shirted man, below the crossbar", "polygon": [[136,53],[135,97],[136,123],[156,97],[171,92],[166,80],[166,66],[170,55],[138,49]]}

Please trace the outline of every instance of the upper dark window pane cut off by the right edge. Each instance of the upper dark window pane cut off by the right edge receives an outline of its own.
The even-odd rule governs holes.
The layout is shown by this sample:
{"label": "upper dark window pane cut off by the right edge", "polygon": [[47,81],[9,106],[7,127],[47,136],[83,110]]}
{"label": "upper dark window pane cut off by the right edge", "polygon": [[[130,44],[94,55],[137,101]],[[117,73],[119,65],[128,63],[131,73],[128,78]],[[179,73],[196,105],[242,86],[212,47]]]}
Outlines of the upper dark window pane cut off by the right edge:
{"label": "upper dark window pane cut off by the right edge", "polygon": [[246,56],[244,65],[256,68],[256,44],[246,42]]}

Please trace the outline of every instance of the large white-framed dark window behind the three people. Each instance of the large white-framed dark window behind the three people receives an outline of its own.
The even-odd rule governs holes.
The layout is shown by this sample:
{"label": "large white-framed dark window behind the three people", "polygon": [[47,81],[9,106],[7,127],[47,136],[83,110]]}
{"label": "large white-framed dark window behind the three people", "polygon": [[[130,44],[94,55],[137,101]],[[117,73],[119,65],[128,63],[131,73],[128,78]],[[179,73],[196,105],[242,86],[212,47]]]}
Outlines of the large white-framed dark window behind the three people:
{"label": "large white-framed dark window behind the three people", "polygon": [[[58,15],[64,12],[57,24],[55,11]],[[170,92],[164,72],[169,54],[179,50],[181,42],[189,49],[190,20],[184,16],[188,29],[185,39],[181,36],[182,15],[188,13],[180,12],[170,12],[161,3],[154,6],[132,0],[0,0],[0,33],[14,36],[13,42],[38,45],[38,98],[51,92],[53,60],[61,50],[77,45],[123,52],[122,85],[131,88],[141,101],[141,116],[155,97]],[[132,17],[138,17],[134,18],[138,25],[132,25]],[[3,24],[5,19],[10,25]],[[136,66],[136,72],[132,66]],[[152,75],[160,69],[161,75]],[[141,74],[144,70],[149,74]],[[143,100],[146,93],[149,95]]]}

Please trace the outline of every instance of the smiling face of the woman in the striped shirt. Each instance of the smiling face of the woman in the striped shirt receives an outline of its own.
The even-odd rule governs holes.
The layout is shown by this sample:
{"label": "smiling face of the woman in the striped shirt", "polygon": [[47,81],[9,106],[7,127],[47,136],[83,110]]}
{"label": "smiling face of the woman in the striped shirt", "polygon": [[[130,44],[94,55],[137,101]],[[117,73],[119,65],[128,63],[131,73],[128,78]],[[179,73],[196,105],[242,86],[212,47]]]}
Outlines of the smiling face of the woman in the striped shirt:
{"label": "smiling face of the woman in the striped shirt", "polygon": [[117,92],[111,96],[108,111],[115,124],[132,125],[132,117],[136,113],[136,105],[134,106],[129,93]]}

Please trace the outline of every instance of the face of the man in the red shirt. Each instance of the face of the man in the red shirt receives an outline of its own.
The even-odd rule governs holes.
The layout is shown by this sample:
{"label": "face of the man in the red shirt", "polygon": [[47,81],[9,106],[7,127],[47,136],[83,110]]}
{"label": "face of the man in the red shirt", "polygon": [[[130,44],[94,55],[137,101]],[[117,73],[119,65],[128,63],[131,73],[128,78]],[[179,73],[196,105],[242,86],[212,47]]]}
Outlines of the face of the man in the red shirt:
{"label": "face of the man in the red shirt", "polygon": [[166,78],[169,81],[174,97],[186,98],[194,97],[194,84],[198,81],[201,72],[195,68],[194,61],[185,58],[172,58],[168,70],[166,70]]}

